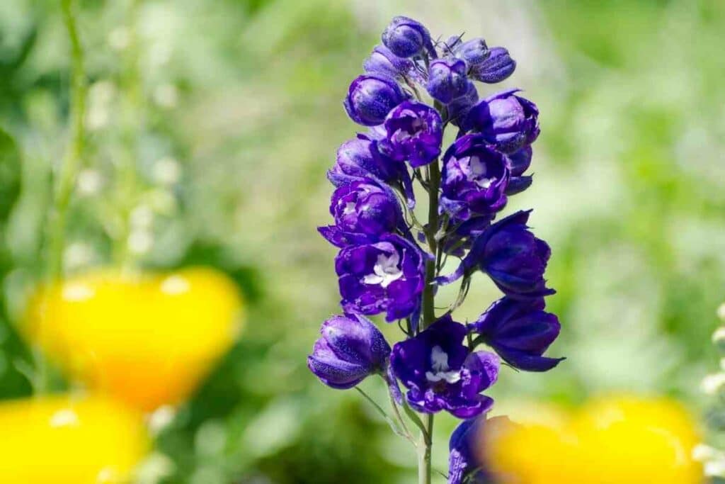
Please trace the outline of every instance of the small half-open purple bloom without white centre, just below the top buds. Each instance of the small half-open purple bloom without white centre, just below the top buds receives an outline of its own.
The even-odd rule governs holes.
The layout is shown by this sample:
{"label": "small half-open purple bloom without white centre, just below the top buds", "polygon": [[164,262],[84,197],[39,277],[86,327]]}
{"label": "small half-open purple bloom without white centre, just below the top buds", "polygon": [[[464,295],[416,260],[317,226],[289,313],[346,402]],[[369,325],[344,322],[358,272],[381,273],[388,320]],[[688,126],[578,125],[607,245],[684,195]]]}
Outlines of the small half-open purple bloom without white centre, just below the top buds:
{"label": "small half-open purple bloom without white centre, just below the top buds", "polygon": [[386,138],[380,147],[394,160],[418,168],[441,154],[443,121],[438,111],[422,102],[399,104],[385,118]]}

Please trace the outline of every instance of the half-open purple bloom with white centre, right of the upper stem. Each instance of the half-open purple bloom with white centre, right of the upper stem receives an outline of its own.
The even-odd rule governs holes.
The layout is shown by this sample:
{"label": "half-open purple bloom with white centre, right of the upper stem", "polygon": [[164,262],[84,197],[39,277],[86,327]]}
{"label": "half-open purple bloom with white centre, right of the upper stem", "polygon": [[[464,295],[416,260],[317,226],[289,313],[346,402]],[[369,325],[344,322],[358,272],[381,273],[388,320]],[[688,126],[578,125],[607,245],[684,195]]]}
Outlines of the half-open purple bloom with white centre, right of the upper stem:
{"label": "half-open purple bloom with white centre, right of the upper stem", "polygon": [[494,214],[506,205],[509,179],[505,155],[480,134],[467,134],[444,155],[441,207],[462,221],[472,214]]}

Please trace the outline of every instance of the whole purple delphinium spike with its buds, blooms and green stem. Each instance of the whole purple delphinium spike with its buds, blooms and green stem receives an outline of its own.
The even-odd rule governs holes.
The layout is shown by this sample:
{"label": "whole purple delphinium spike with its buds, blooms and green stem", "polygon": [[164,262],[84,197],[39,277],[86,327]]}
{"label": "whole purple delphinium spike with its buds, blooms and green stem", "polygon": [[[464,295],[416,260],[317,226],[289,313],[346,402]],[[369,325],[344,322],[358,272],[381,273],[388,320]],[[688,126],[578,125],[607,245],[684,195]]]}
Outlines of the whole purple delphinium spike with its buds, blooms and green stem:
{"label": "whole purple delphinium spike with its buds, blooms and green stem", "polygon": [[[363,131],[337,151],[328,171],[333,223],[319,228],[339,248],[345,315],[323,324],[308,365],[334,388],[364,393],[358,384],[368,375],[385,380],[394,417],[376,409],[418,448],[420,483],[431,482],[434,414],[463,419],[450,442],[449,483],[477,483],[484,473],[470,445],[494,404],[484,393],[500,366],[543,372],[563,359],[544,356],[560,331],[544,311],[554,293],[544,279],[550,247],[529,228],[531,210],[501,216],[533,181],[526,172],[539,111],[520,89],[479,94],[476,83],[498,83],[516,67],[484,38],[434,41],[421,22],[395,17],[381,41],[344,96]],[[452,127],[455,140],[444,146]],[[415,211],[413,181],[427,194],[425,215]],[[460,259],[450,273],[449,257]],[[453,313],[479,272],[502,298],[461,324]],[[438,308],[437,287],[459,280],[458,297]],[[392,348],[365,317],[378,314],[402,330]]]}

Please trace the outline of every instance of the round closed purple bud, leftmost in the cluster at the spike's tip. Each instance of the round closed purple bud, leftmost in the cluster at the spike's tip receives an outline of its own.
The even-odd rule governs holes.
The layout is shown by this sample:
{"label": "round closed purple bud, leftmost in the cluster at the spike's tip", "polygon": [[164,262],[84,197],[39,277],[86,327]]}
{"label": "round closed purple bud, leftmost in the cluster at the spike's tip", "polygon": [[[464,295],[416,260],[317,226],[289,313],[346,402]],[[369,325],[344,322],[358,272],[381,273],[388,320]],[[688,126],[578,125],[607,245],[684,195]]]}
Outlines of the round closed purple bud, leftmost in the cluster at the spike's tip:
{"label": "round closed purple bud, leftmost in the cluster at the spike's tip", "polygon": [[410,96],[394,78],[381,74],[359,75],[344,100],[350,119],[363,126],[382,123],[390,110]]}

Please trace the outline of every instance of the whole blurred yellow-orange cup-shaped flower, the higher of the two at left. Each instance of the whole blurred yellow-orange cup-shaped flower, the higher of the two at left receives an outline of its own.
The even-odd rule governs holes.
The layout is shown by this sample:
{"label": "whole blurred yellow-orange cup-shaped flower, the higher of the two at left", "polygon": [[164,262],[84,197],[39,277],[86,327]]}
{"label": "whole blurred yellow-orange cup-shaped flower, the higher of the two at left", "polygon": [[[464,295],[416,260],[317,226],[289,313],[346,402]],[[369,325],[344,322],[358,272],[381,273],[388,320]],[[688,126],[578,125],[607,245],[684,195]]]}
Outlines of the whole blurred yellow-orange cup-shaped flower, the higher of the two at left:
{"label": "whole blurred yellow-orange cup-shaped flower, the higher of the two at left", "polygon": [[236,285],[209,268],[98,271],[38,292],[27,332],[71,377],[143,410],[188,398],[239,333]]}

